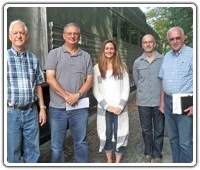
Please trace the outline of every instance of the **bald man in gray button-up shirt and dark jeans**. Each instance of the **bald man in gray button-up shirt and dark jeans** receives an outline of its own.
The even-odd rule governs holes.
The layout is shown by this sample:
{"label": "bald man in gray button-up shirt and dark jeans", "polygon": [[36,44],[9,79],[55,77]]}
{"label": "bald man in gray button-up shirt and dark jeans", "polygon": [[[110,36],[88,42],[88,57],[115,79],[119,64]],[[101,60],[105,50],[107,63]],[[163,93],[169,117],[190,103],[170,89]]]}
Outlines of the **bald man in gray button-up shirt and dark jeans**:
{"label": "bald man in gray button-up shirt and dark jeans", "polygon": [[137,87],[136,104],[145,145],[145,163],[162,162],[164,114],[159,111],[161,79],[158,74],[163,57],[155,47],[155,38],[150,34],[145,35],[142,39],[144,52],[133,64],[133,79]]}

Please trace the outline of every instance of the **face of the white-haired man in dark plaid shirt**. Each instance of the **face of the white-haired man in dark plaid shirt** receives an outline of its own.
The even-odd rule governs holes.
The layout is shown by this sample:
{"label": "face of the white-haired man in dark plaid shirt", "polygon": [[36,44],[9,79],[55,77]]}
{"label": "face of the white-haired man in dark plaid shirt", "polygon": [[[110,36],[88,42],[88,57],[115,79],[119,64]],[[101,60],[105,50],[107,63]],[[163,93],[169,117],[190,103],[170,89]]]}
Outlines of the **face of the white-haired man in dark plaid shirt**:
{"label": "face of the white-haired man in dark plaid shirt", "polygon": [[12,31],[9,33],[9,39],[14,49],[19,51],[24,50],[25,44],[28,40],[28,35],[21,23],[13,25]]}

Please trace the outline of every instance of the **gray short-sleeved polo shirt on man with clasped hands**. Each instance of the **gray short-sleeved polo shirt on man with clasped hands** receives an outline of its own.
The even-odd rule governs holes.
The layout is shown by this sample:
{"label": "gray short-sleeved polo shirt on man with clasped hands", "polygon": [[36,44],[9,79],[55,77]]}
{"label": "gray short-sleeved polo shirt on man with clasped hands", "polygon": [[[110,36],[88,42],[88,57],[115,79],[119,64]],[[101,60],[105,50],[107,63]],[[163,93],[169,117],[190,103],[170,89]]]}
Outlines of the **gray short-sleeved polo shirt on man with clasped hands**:
{"label": "gray short-sleeved polo shirt on man with clasped hands", "polygon": [[[93,74],[93,64],[90,54],[78,49],[76,54],[71,55],[64,46],[49,52],[46,70],[56,71],[56,79],[70,93],[76,93],[86,80],[88,75]],[[84,97],[86,94],[84,94]],[[50,88],[50,106],[65,108],[65,100]]]}

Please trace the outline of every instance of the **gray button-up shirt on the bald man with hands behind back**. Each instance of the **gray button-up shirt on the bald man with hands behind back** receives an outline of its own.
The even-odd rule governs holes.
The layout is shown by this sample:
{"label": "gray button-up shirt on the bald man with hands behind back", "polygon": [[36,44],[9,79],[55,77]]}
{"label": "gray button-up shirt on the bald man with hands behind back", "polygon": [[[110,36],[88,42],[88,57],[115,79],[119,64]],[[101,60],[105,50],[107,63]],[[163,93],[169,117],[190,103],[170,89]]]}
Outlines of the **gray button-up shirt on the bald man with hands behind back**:
{"label": "gray button-up shirt on the bald man with hands behind back", "polygon": [[149,63],[145,53],[137,58],[133,64],[133,79],[136,85],[136,104],[138,106],[159,106],[161,79],[158,77],[163,56],[155,53],[155,60]]}

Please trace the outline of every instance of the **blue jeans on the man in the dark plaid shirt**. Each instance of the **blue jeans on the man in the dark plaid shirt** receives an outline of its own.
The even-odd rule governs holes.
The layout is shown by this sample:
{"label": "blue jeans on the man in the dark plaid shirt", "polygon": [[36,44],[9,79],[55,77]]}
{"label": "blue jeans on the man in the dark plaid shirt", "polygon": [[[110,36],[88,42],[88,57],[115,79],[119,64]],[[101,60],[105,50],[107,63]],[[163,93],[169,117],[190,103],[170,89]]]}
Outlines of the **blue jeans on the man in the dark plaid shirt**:
{"label": "blue jeans on the man in the dark plaid shirt", "polygon": [[37,163],[39,149],[39,121],[37,107],[28,110],[7,108],[8,162],[19,163],[23,150],[25,163]]}

